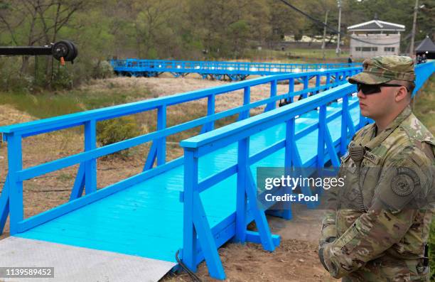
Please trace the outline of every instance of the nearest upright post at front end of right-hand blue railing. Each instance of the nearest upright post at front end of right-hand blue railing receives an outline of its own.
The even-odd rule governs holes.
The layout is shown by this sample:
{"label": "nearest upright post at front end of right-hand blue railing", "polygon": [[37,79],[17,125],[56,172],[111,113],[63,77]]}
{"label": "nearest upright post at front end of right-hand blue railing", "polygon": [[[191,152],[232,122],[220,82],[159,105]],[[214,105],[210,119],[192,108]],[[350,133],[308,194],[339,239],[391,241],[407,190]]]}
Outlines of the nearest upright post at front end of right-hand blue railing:
{"label": "nearest upright post at front end of right-hand blue railing", "polygon": [[196,271],[197,239],[193,224],[193,190],[198,186],[198,158],[194,151],[184,149],[183,191],[183,262],[191,271]]}

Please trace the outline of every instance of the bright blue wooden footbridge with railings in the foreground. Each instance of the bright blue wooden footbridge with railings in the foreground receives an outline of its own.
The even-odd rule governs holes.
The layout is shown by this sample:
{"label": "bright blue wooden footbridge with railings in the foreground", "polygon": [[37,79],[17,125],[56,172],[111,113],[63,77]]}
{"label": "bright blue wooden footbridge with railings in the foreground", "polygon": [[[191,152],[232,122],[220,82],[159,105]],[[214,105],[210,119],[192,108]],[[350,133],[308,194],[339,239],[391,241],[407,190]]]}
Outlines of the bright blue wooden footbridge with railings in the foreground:
{"label": "bright blue wooden footbridge with railings in the foreground", "polygon": [[[265,211],[256,206],[256,168],[339,166],[339,156],[345,153],[350,138],[369,122],[360,115],[355,85],[345,80],[360,71],[360,67],[345,67],[265,76],[0,127],[8,146],[8,175],[0,198],[0,232],[8,215],[11,230],[11,237],[0,241],[0,264],[24,264],[29,257],[36,266],[55,264],[58,281],[92,281],[89,272],[97,273],[105,264],[110,273],[115,273],[115,281],[143,281],[144,277],[157,281],[178,267],[175,255],[180,251],[183,263],[191,270],[195,271],[205,260],[210,276],[225,278],[218,254],[225,242],[255,242],[268,251],[279,245],[279,236],[271,233]],[[415,91],[434,71],[434,62],[416,67]],[[315,77],[316,85],[310,87],[306,83],[303,90],[295,91],[295,82],[307,81],[308,77]],[[279,82],[288,83],[288,92],[277,93]],[[269,97],[252,102],[252,88],[264,84],[270,85]],[[216,97],[237,90],[244,93],[243,103],[215,112]],[[277,107],[280,99],[289,101],[296,96],[304,99]],[[208,100],[206,116],[167,126],[168,108],[204,98]],[[254,107],[264,107],[264,112],[250,116]],[[156,131],[97,147],[98,121],[151,110],[157,112]],[[215,129],[216,121],[235,114],[236,122]],[[73,126],[85,128],[82,153],[23,168],[22,139]],[[166,162],[166,138],[197,126],[201,126],[201,134],[180,143],[184,156]],[[97,158],[147,142],[152,145],[141,173],[97,190]],[[24,218],[23,181],[77,164],[80,168],[70,201]],[[301,189],[310,195],[311,190]],[[291,207],[274,214],[291,219]],[[257,232],[247,229],[252,221]],[[95,259],[97,254],[105,259]],[[55,259],[50,261],[51,257]],[[87,258],[90,259],[80,269],[76,260]],[[119,259],[128,263],[116,272]],[[134,259],[142,261],[136,264]],[[111,261],[118,263],[110,264]],[[74,267],[77,273],[67,273]],[[138,276],[124,277],[135,271],[139,271]],[[80,273],[85,275],[83,272],[86,278],[80,277]]]}

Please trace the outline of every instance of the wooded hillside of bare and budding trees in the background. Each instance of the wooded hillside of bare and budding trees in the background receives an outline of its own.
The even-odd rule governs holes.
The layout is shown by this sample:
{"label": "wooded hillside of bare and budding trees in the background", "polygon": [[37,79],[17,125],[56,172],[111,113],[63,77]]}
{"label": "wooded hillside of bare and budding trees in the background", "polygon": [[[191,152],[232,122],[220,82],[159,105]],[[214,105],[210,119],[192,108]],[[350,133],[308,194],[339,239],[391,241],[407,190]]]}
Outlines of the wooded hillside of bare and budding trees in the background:
{"label": "wooded hillside of bare and budding trees in the background", "polygon": [[[338,24],[336,0],[294,0],[291,4],[319,21],[329,11],[328,25]],[[382,21],[404,24],[403,37],[412,28],[414,0],[346,0],[342,4],[341,31],[370,21],[375,13]],[[421,0],[421,4],[416,40],[426,34],[435,39],[435,0]],[[33,57],[0,58],[1,89],[19,92],[69,89],[91,78],[108,77],[112,71],[106,61],[114,57],[255,60],[258,57],[252,53],[259,45],[284,35],[301,38],[323,33],[323,26],[276,0],[8,0],[0,1],[0,17],[0,45],[45,45],[70,39],[79,49],[75,64],[67,63],[65,72],[57,71],[56,61],[52,70],[51,61],[43,56],[38,57],[37,66]],[[332,34],[327,30],[327,38]],[[402,49],[408,44],[409,39],[404,40]]]}

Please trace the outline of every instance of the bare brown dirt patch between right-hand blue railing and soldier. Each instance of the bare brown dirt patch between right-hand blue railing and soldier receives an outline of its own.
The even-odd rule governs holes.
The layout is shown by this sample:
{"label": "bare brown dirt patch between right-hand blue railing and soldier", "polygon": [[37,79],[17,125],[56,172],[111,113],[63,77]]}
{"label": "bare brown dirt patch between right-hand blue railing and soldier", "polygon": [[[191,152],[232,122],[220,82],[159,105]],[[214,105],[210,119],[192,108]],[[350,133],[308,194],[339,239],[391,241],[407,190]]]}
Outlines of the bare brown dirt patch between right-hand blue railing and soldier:
{"label": "bare brown dirt patch between right-hand blue railing and soldier", "polygon": [[[272,233],[281,236],[281,244],[274,252],[264,251],[259,244],[246,245],[228,243],[219,249],[220,258],[227,276],[225,281],[289,281],[318,282],[338,281],[329,276],[318,260],[317,246],[321,229],[320,210],[294,207],[291,220],[268,216]],[[210,278],[203,262],[198,267],[202,281]],[[163,282],[191,281],[187,273],[168,274]]]}

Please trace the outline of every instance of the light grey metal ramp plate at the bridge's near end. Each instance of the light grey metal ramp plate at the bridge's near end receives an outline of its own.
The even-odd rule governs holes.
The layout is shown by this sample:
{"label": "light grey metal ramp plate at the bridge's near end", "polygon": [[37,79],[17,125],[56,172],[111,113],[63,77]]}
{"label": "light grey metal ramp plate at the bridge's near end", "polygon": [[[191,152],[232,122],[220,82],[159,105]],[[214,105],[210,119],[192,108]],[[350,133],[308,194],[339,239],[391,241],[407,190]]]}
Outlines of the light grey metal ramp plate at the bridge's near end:
{"label": "light grey metal ramp plate at the bridge's near end", "polygon": [[54,278],[0,278],[0,281],[159,281],[175,263],[34,239],[0,241],[1,267],[54,267]]}

